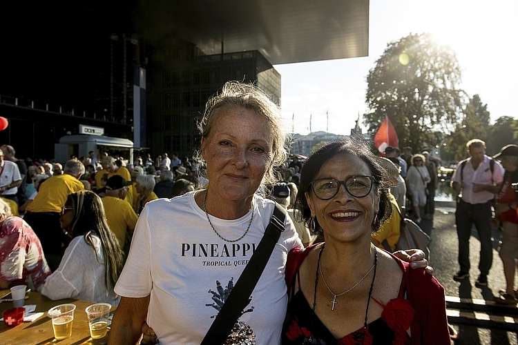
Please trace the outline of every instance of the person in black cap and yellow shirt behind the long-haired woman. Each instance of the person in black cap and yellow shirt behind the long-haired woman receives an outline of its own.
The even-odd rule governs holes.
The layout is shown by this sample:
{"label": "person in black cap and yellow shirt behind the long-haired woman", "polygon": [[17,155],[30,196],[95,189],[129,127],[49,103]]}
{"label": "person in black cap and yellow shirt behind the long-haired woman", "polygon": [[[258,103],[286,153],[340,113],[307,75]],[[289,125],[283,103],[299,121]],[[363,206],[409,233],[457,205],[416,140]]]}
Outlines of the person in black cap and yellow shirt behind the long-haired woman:
{"label": "person in black cap and yellow shirt behind the long-haired woman", "polygon": [[126,181],[122,176],[112,176],[106,181],[106,197],[101,199],[106,211],[106,221],[117,237],[121,249],[124,249],[126,242],[131,241],[138,219],[133,208],[124,201],[128,186],[131,185],[132,182]]}

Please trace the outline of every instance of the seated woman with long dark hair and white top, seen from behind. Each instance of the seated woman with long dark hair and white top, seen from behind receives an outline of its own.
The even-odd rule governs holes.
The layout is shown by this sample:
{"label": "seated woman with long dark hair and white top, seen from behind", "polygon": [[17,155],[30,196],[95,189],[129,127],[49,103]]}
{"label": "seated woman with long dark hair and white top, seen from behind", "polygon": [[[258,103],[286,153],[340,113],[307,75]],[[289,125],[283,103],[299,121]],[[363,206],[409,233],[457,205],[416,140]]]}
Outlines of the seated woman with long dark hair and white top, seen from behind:
{"label": "seated woman with long dark hair and white top, seen from behind", "polygon": [[72,241],[41,294],[50,299],[119,304],[113,286],[124,264],[123,253],[108,228],[101,198],[89,190],[68,195],[59,223]]}

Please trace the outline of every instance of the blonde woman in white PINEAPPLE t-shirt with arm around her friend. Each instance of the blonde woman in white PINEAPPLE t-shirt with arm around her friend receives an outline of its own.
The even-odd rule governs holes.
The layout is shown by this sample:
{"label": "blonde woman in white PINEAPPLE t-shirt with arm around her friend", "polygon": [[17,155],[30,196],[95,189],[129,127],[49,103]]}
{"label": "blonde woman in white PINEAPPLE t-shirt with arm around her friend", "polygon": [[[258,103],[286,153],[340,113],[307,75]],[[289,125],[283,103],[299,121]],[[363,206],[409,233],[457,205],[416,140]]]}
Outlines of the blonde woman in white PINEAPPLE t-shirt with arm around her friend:
{"label": "blonde woman in white PINEAPPLE t-shirt with arm around her friend", "polygon": [[[110,345],[135,344],[142,331],[146,342],[202,343],[265,235],[275,206],[257,191],[276,183],[275,167],[287,159],[280,109],[256,86],[229,81],[207,103],[200,137],[209,184],[146,204],[115,286],[122,299]],[[239,339],[220,344],[280,344],[287,254],[303,248],[289,217],[284,226],[239,323],[222,331]]]}

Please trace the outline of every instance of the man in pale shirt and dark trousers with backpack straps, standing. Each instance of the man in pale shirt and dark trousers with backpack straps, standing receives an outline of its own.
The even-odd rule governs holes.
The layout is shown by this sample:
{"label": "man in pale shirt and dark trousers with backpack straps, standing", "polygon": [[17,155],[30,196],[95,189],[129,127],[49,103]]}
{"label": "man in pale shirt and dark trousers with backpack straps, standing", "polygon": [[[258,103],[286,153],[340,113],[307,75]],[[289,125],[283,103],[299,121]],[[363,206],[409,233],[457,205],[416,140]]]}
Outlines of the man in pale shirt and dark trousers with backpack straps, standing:
{"label": "man in pale shirt and dark trousers with backpack straps, standing", "polygon": [[460,281],[470,276],[470,235],[474,224],[480,239],[480,275],[475,286],[488,285],[492,264],[490,220],[491,204],[503,182],[503,168],[486,156],[486,143],[472,139],[466,144],[470,158],[459,162],[452,177],[452,188],[461,192],[457,203],[455,223],[459,237],[459,265],[461,270],[453,276]]}

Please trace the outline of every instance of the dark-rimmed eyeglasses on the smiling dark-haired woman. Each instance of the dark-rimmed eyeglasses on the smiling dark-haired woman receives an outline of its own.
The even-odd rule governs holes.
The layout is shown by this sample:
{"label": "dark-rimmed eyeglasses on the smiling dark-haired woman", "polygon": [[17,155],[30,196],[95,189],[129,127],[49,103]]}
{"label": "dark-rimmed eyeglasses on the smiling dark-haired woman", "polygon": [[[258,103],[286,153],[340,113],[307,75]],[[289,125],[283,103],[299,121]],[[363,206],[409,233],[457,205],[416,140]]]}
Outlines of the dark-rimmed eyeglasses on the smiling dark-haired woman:
{"label": "dark-rimmed eyeglasses on the smiling dark-haired woman", "polygon": [[316,179],[311,181],[313,193],[321,200],[329,200],[334,197],[340,189],[340,184],[345,186],[347,193],[353,197],[366,197],[372,190],[372,176],[352,176],[345,181],[336,181],[336,179]]}

